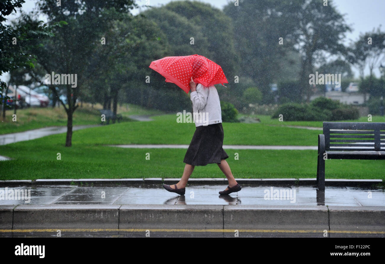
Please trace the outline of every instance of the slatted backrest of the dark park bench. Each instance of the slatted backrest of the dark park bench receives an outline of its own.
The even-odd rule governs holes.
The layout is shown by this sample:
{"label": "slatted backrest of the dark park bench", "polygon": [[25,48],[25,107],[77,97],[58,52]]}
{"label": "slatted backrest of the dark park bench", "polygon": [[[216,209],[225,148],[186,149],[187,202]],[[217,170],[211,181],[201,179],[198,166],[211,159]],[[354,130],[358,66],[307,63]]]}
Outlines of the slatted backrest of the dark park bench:
{"label": "slatted backrest of the dark park bench", "polygon": [[325,150],[385,151],[385,123],[323,122]]}

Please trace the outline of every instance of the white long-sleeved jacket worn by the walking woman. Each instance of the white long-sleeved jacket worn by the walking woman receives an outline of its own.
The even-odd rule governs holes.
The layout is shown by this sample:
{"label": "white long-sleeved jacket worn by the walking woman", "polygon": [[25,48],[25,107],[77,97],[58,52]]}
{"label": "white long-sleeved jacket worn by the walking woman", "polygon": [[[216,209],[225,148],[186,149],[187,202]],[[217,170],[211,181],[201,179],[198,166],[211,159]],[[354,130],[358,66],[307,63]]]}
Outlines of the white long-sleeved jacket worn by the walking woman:
{"label": "white long-sleeved jacket worn by the walking woman", "polygon": [[196,127],[222,123],[221,102],[214,85],[198,84],[196,91],[190,93],[190,99]]}

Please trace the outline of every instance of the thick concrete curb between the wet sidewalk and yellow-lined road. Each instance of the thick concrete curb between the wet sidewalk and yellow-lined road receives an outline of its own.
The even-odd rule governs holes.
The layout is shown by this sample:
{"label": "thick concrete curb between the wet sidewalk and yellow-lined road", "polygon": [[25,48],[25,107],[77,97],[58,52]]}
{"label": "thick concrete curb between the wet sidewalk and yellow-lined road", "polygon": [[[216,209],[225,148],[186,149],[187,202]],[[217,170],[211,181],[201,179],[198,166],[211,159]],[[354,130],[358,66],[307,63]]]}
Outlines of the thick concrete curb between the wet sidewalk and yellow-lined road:
{"label": "thick concrete curb between the wet sidewalk and yellow-lined road", "polygon": [[[385,206],[60,204],[13,207],[0,206],[0,229],[258,229],[308,230],[320,234],[324,230],[385,231]],[[218,235],[222,236],[218,232],[214,236]]]}

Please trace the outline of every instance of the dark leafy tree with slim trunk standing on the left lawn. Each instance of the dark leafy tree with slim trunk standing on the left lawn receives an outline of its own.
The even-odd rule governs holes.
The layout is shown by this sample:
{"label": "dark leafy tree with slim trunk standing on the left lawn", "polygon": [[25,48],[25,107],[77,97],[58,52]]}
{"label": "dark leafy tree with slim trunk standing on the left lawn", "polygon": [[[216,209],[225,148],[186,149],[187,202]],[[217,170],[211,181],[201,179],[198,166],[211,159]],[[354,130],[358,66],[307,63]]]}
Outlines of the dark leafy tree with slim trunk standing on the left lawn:
{"label": "dark leafy tree with slim trunk standing on the left lawn", "polygon": [[[136,4],[134,0],[93,0],[73,1],[58,7],[56,1],[40,0],[39,8],[47,15],[49,23],[66,21],[65,27],[54,31],[55,38],[44,45],[42,51],[37,51],[39,63],[47,74],[72,74],[77,76],[77,85],[65,85],[67,102],[61,104],[67,113],[67,135],[65,146],[72,145],[73,113],[79,105],[77,99],[88,79],[96,77],[99,71],[90,71],[92,55],[97,46],[102,45],[102,37],[114,20],[129,12]],[[103,68],[104,64],[99,63]],[[56,84],[50,84],[50,89],[58,94]],[[73,87],[74,86],[74,87]]]}

